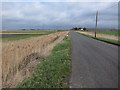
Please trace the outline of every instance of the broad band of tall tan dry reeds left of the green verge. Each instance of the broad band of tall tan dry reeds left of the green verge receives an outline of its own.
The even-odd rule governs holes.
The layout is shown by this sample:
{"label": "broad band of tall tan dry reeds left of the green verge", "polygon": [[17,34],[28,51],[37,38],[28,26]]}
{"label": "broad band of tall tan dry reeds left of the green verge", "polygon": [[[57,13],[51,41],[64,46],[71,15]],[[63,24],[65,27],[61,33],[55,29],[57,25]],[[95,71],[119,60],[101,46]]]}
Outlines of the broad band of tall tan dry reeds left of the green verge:
{"label": "broad band of tall tan dry reeds left of the green verge", "polygon": [[[34,72],[39,60],[47,57],[68,32],[59,32],[2,44],[2,84],[15,87]],[[32,72],[32,73],[31,73]]]}

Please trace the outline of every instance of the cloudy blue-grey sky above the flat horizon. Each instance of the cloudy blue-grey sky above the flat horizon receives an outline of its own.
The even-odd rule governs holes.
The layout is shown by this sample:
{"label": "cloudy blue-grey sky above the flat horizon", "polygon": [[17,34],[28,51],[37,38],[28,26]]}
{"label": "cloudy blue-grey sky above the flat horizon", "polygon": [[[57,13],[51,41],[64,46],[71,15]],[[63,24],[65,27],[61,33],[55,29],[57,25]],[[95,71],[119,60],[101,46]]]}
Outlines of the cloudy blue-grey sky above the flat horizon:
{"label": "cloudy blue-grey sky above the flat horizon", "polygon": [[118,2],[108,1],[3,0],[2,30],[95,28],[96,11],[98,28],[117,29]]}

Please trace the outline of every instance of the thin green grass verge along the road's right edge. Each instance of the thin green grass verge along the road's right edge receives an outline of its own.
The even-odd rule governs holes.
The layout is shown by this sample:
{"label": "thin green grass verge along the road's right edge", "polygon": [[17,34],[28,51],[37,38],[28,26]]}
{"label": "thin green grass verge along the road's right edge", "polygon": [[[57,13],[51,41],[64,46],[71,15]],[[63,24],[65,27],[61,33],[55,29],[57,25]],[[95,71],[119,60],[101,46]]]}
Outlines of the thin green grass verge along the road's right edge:
{"label": "thin green grass verge along the road's right edge", "polygon": [[104,42],[107,42],[107,43],[111,43],[111,44],[115,44],[115,45],[120,45],[120,41],[117,41],[117,40],[111,40],[111,39],[106,39],[106,38],[93,37],[91,35],[86,35],[86,34],[83,34],[83,33],[80,33],[80,32],[77,32],[77,33],[79,33],[81,35],[84,35],[84,36],[87,36],[87,37],[90,37],[90,38],[93,38],[93,39],[104,41]]}

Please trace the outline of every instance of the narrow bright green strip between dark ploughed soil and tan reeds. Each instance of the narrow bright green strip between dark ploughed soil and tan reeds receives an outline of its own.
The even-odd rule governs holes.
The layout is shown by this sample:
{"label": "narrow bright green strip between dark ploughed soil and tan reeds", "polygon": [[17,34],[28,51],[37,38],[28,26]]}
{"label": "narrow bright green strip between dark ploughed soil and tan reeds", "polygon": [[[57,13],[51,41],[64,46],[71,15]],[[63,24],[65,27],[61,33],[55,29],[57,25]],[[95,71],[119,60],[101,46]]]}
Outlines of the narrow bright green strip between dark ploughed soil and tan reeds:
{"label": "narrow bright green strip between dark ploughed soil and tan reeds", "polygon": [[39,37],[42,35],[48,35],[48,34],[31,34],[31,35],[24,35],[24,36],[15,36],[15,37],[2,38],[2,40],[13,41],[13,40],[26,39],[30,37]]}

